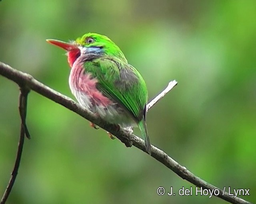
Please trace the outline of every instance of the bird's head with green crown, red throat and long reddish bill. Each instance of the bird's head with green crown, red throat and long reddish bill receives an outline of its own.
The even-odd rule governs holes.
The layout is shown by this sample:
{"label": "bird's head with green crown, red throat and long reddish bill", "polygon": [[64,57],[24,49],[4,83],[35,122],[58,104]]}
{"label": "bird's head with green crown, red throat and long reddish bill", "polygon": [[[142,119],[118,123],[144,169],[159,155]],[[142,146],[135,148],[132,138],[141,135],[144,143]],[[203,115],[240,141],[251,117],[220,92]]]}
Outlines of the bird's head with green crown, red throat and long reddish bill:
{"label": "bird's head with green crown, red throat and long reddish bill", "polygon": [[95,57],[102,55],[112,56],[127,62],[120,48],[105,35],[86,33],[75,41],[68,43],[56,39],[47,39],[46,41],[67,51],[70,67],[72,67],[80,55],[94,55]]}

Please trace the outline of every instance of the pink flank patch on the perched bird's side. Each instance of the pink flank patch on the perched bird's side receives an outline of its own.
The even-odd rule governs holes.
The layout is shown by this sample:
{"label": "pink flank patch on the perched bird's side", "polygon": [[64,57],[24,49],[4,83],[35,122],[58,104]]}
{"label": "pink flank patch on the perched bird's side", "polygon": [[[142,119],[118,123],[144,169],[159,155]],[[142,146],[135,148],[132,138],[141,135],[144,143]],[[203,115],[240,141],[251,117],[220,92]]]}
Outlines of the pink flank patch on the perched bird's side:
{"label": "pink flank patch on the perched bird's side", "polygon": [[70,72],[73,87],[78,90],[78,92],[88,96],[92,104],[96,106],[107,107],[114,104],[96,88],[98,82],[97,78],[92,78],[90,73],[84,73],[86,67],[84,69],[84,61],[81,58],[82,57],[78,57]]}

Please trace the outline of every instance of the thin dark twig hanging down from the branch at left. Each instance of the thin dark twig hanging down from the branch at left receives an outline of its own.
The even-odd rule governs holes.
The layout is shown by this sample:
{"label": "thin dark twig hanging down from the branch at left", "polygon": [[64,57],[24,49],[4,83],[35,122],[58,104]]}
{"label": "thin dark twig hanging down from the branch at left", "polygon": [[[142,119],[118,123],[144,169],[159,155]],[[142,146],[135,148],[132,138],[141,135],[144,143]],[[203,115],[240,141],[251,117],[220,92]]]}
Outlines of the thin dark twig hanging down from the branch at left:
{"label": "thin dark twig hanging down from the branch at left", "polygon": [[[24,136],[25,136],[25,133],[26,133],[26,128],[25,128],[26,124],[24,122],[26,121],[28,92],[29,91],[26,88],[20,88],[20,96],[19,96],[19,100],[20,100],[19,110],[20,110],[20,118],[21,118],[20,140],[19,140],[19,143],[18,143],[18,151],[17,151],[16,161],[15,161],[15,164],[14,164],[12,175],[11,175],[9,183],[6,187],[4,195],[2,196],[0,204],[5,204],[7,198],[8,198],[8,196],[9,196],[11,190],[12,190],[12,186],[14,185],[15,179],[18,175],[18,169],[19,169],[19,166],[20,166],[20,159],[21,159],[22,149],[23,149],[23,144],[24,144]],[[28,136],[29,135],[27,135],[27,137]]]}

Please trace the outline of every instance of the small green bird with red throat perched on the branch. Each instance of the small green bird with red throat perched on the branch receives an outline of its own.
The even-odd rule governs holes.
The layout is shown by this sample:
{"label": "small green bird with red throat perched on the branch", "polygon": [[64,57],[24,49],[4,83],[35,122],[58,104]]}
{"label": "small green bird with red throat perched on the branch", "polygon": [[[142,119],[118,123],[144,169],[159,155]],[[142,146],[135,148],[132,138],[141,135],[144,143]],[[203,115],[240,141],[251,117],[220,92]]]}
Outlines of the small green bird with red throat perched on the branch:
{"label": "small green bird with red throat perched on the branch", "polygon": [[138,126],[150,154],[146,126],[148,90],[120,48],[97,33],[86,33],[68,43],[56,39],[47,41],[67,51],[71,67],[69,86],[79,104],[120,128],[131,130]]}

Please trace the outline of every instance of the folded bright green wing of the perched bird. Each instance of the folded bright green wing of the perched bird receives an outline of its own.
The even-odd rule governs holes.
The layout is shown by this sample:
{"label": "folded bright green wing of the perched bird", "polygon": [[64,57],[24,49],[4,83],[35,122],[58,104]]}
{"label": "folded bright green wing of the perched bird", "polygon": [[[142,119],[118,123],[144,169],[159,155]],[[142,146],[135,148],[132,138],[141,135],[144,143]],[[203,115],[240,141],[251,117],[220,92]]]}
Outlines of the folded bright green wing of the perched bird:
{"label": "folded bright green wing of the perched bird", "polygon": [[84,69],[98,79],[97,88],[103,94],[120,103],[136,120],[142,120],[148,91],[134,67],[117,57],[100,57],[85,62]]}

